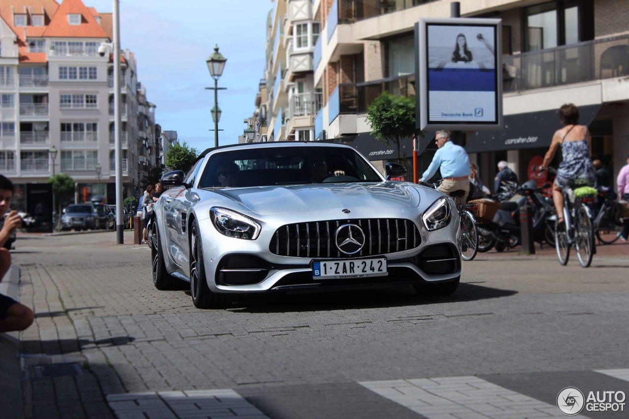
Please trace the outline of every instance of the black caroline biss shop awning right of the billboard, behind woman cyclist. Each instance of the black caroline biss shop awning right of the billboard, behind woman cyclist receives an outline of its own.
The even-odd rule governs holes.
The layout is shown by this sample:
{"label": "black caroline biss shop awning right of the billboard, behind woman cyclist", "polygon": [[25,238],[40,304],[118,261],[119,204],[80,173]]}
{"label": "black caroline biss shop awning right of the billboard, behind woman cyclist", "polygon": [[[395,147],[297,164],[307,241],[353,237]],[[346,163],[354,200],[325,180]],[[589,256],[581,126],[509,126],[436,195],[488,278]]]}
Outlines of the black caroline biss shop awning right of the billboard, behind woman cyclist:
{"label": "black caroline biss shop awning right of the billboard, behind woman cyclist", "polygon": [[[579,123],[590,125],[600,108],[600,104],[579,106]],[[465,150],[468,153],[482,153],[549,147],[552,136],[559,128],[559,109],[506,115],[504,130],[474,133],[468,137]]]}

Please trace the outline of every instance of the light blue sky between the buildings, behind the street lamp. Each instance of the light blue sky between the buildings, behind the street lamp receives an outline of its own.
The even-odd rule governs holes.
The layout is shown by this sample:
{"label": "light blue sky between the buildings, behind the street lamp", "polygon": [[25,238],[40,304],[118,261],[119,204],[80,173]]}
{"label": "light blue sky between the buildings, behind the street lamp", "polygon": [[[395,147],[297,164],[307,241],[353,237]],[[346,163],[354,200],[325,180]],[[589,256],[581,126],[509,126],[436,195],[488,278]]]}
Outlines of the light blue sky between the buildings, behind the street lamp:
{"label": "light blue sky between the buildings, behind the street lamp", "polygon": [[[114,0],[83,0],[113,12]],[[121,47],[135,53],[138,81],[155,104],[155,122],[177,131],[199,152],[214,147],[214,79],[206,60],[218,44],[227,59],[218,80],[219,145],[238,142],[253,115],[264,76],[267,14],[271,0],[120,0]]]}

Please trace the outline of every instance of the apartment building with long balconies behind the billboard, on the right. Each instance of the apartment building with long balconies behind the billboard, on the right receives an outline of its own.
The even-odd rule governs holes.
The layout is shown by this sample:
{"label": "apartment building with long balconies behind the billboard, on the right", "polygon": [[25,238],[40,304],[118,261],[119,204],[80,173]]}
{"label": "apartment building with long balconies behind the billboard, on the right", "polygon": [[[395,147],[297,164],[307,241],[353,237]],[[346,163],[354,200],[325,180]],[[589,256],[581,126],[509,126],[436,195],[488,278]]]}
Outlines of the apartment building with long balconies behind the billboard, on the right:
{"label": "apartment building with long balconies behind the billboard, on the right", "polygon": [[[383,165],[392,153],[369,134],[367,108],[383,90],[416,94],[414,25],[422,17],[449,17],[450,3],[276,0],[267,19],[265,84],[253,116],[258,125],[266,123],[265,139],[345,142]],[[626,1],[464,0],[460,13],[502,20],[504,130],[465,132],[457,140],[481,167],[484,182],[492,183],[499,160],[526,179],[560,127],[557,109],[571,102],[590,127],[593,156],[620,169],[629,152]],[[315,113],[314,126],[296,126],[302,92],[321,98],[304,112]],[[307,135],[299,131],[306,128]],[[433,138],[428,132],[421,142],[428,145],[420,156],[423,168],[433,155]],[[411,156],[408,138],[402,153]]]}

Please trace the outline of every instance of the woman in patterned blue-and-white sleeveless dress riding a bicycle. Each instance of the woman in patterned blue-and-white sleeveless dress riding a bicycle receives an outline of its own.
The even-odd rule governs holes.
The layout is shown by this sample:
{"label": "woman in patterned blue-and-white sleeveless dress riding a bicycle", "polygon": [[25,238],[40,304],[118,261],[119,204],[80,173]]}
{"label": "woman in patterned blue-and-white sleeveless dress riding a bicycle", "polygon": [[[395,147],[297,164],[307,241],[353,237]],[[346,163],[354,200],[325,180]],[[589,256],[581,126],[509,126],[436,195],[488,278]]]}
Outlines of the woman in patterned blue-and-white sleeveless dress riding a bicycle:
{"label": "woman in patterned blue-and-white sleeveless dress riding a bicycle", "polygon": [[550,148],[539,170],[546,170],[561,146],[564,160],[559,164],[557,177],[552,187],[552,197],[557,210],[558,222],[564,221],[564,194],[566,187],[573,184],[592,186],[596,172],[590,158],[591,137],[587,126],[579,125],[579,109],[573,104],[564,104],[559,108],[559,120],[564,128],[555,131]]}

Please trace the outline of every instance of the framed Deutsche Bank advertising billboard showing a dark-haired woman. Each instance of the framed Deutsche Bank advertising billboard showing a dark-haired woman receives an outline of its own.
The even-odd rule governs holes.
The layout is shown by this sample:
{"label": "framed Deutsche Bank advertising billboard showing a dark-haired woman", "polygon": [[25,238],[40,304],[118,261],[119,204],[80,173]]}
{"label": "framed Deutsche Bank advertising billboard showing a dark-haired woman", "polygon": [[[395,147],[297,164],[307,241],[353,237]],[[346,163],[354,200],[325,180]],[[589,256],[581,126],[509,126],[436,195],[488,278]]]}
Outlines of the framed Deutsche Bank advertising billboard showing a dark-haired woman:
{"label": "framed Deutsche Bank advertising billboard showing a dark-haired woman", "polygon": [[501,20],[426,18],[416,27],[418,128],[501,129]]}

